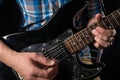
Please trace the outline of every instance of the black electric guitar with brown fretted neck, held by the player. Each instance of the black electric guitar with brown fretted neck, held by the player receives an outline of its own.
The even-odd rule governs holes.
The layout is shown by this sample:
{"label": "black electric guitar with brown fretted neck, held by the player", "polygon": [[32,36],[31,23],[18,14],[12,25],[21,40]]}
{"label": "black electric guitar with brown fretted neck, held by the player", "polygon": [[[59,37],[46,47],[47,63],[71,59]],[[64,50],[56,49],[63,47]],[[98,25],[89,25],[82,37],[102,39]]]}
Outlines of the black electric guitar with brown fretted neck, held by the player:
{"label": "black electric guitar with brown fretted neck, held by the player", "polygon": [[[96,26],[111,29],[120,25],[120,9],[102,21],[80,30],[78,26],[85,26],[80,21],[84,19],[86,6],[84,0],[70,1],[58,9],[39,30],[13,33],[3,39],[16,51],[41,52],[46,57],[58,59],[60,73],[54,80],[75,80],[73,75],[78,72],[80,74],[77,74],[76,80],[89,80],[98,76],[104,64],[100,62],[99,56],[99,60],[95,60],[93,64],[84,64],[79,58],[79,51],[94,42],[91,31]],[[80,67],[80,71],[73,70],[75,64]]]}

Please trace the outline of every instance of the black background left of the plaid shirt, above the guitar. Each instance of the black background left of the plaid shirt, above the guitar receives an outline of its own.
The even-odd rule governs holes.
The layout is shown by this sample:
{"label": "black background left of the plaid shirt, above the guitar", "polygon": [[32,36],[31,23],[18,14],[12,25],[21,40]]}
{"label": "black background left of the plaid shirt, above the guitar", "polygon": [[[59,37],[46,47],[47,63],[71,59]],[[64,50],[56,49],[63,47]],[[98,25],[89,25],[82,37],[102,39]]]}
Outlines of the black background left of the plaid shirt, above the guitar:
{"label": "black background left of the plaid shirt, above the guitar", "polygon": [[15,0],[3,0],[0,5],[0,35],[18,32],[21,13]]}

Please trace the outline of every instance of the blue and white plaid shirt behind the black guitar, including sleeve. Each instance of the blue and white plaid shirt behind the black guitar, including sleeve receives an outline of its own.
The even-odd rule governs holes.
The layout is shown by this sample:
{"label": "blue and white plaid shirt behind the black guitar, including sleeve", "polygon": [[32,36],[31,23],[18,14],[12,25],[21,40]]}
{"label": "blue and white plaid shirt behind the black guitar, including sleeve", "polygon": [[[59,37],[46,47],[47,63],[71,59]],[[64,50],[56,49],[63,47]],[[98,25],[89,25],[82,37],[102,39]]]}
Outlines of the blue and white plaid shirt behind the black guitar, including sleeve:
{"label": "blue and white plaid shirt behind the black guitar, including sleeve", "polygon": [[[39,29],[57,9],[69,1],[71,0],[17,0],[23,13],[24,20],[22,27],[39,21],[39,23],[30,26],[27,31]],[[89,18],[93,17],[96,13],[100,13],[101,5],[99,0],[89,0],[87,10]],[[88,54],[87,57],[90,57],[89,52],[90,49],[86,47],[81,51],[81,55],[83,56],[86,53]]]}

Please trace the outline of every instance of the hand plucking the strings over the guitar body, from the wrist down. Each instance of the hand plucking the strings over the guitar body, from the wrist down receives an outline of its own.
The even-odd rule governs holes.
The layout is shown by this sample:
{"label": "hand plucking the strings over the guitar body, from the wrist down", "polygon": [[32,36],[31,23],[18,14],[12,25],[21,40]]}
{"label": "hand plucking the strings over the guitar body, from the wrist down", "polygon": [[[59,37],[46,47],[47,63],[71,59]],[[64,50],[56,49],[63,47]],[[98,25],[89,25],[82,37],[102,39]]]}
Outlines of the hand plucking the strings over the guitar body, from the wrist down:
{"label": "hand plucking the strings over the guitar body, from the wrist down", "polygon": [[58,73],[57,61],[41,54],[23,52],[16,57],[13,67],[24,80],[52,80]]}

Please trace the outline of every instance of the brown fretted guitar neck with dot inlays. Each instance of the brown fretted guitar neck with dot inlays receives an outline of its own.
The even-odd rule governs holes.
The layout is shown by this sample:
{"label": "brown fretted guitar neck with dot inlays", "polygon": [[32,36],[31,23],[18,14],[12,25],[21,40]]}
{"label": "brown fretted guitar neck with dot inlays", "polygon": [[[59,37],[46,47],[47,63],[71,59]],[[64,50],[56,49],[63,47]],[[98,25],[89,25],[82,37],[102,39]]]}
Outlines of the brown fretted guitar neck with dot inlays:
{"label": "brown fretted guitar neck with dot inlays", "polygon": [[64,40],[64,44],[70,53],[75,53],[81,50],[88,44],[94,41],[92,30],[97,26],[104,26],[106,29],[114,29],[120,25],[120,9],[107,15],[102,21],[98,21],[88,26],[87,28],[75,33]]}

